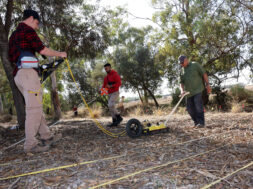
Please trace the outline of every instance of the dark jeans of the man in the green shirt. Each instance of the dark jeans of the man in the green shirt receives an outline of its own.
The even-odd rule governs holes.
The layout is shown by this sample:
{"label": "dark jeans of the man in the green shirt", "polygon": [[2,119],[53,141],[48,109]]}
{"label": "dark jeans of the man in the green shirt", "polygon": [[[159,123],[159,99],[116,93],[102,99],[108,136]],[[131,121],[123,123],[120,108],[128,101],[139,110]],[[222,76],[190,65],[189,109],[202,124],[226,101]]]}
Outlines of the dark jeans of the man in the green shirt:
{"label": "dark jeans of the man in the green shirt", "polygon": [[195,126],[197,124],[205,125],[204,106],[202,102],[202,94],[198,93],[187,98],[187,111],[190,114]]}

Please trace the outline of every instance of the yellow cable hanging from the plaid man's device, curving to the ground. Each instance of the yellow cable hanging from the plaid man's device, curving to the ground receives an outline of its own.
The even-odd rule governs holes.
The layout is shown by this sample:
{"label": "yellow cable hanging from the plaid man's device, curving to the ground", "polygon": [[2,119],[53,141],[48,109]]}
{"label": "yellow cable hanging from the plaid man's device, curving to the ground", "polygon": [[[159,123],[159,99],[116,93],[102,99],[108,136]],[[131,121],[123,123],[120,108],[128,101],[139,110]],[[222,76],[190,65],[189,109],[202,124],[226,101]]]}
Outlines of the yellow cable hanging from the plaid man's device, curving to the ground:
{"label": "yellow cable hanging from the plaid man's device, curving to the ground", "polygon": [[70,75],[71,75],[71,77],[72,77],[72,80],[74,81],[74,83],[75,83],[75,85],[76,85],[76,88],[77,88],[77,90],[78,90],[78,92],[79,92],[79,94],[80,94],[80,96],[81,96],[81,98],[82,98],[82,100],[83,100],[85,106],[87,107],[87,109],[88,109],[88,111],[89,111],[89,113],[90,113],[90,115],[91,115],[92,120],[95,122],[95,124],[97,125],[97,127],[98,127],[99,129],[101,129],[105,134],[107,134],[107,135],[109,135],[109,136],[111,136],[111,137],[124,136],[124,135],[126,134],[126,131],[122,131],[122,132],[120,132],[120,133],[112,133],[112,132],[106,130],[106,129],[94,118],[94,114],[93,114],[92,110],[90,109],[89,105],[87,104],[86,100],[84,99],[84,97],[83,97],[83,95],[82,95],[82,93],[81,93],[81,90],[80,90],[80,88],[78,87],[78,85],[77,85],[77,83],[76,83],[76,80],[75,80],[74,75],[73,75],[73,73],[72,73],[72,71],[71,71],[71,68],[70,68],[70,65],[69,65],[69,61],[68,61],[67,58],[65,58],[65,62],[67,63],[68,70],[69,70],[69,73],[70,73]]}

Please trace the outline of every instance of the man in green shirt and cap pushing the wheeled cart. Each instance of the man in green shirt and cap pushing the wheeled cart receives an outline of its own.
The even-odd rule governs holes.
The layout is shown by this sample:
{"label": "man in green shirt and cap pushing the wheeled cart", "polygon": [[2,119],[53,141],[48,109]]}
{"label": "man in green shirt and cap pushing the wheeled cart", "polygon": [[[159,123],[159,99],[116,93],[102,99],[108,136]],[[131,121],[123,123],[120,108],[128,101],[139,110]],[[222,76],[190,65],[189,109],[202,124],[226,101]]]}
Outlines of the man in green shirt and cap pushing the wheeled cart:
{"label": "man in green shirt and cap pushing the wheeled cart", "polygon": [[200,64],[189,62],[186,56],[181,55],[178,60],[184,68],[184,73],[180,78],[182,93],[185,91],[190,92],[187,95],[187,111],[194,121],[195,126],[199,128],[205,127],[202,91],[206,87],[207,92],[211,93],[208,76]]}

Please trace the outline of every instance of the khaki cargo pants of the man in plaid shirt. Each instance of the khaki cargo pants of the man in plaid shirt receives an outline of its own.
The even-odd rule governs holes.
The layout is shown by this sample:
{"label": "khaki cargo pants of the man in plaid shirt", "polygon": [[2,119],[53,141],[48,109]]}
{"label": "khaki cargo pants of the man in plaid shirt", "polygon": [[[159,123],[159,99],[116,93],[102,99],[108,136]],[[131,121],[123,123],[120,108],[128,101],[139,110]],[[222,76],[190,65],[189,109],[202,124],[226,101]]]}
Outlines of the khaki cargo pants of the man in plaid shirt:
{"label": "khaki cargo pants of the man in plaid shirt", "polygon": [[25,99],[24,149],[29,150],[38,144],[35,138],[37,133],[39,133],[41,139],[47,140],[51,137],[43,114],[40,79],[34,69],[20,69],[14,80]]}

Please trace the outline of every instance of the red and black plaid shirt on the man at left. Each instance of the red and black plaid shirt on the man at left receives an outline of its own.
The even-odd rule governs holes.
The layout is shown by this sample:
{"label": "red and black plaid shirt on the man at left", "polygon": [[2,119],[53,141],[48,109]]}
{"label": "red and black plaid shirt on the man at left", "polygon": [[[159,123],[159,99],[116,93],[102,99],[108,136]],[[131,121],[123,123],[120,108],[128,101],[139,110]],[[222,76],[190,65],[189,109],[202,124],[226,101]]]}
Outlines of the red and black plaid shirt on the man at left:
{"label": "red and black plaid shirt on the man at left", "polygon": [[21,22],[9,39],[9,60],[16,63],[20,50],[29,51],[35,55],[35,52],[39,53],[44,47],[35,30]]}

